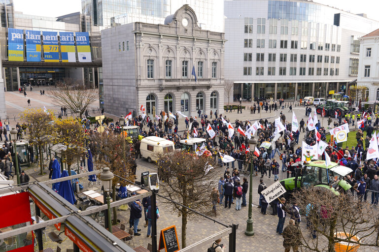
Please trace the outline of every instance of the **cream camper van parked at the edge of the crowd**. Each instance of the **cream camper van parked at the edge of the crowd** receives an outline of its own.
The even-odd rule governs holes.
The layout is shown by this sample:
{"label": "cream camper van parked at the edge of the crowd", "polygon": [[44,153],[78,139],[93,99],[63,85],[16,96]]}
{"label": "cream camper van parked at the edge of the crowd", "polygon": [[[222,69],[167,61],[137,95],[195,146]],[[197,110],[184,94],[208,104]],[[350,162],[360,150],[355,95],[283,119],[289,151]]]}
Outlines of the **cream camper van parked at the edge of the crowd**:
{"label": "cream camper van parked at the edge of the crowd", "polygon": [[174,143],[157,136],[148,136],[141,139],[140,151],[142,158],[147,158],[148,162],[157,161],[160,153],[172,152],[175,150]]}

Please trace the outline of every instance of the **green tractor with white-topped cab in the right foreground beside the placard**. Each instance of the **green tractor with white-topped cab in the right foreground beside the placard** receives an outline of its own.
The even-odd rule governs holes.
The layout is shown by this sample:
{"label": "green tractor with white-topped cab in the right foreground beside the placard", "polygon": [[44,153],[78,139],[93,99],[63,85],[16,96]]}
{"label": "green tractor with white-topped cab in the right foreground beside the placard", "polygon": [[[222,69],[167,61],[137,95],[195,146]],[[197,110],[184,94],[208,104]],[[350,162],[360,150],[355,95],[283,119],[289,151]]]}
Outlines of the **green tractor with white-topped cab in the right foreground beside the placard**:
{"label": "green tractor with white-topped cab in the right foreground beside the placard", "polygon": [[340,195],[342,190],[347,191],[351,188],[344,177],[353,170],[335,162],[331,162],[328,167],[324,160],[296,162],[291,168],[295,171],[295,176],[280,181],[287,191],[286,198],[290,197],[293,191],[302,188],[321,187],[331,190],[336,195]]}

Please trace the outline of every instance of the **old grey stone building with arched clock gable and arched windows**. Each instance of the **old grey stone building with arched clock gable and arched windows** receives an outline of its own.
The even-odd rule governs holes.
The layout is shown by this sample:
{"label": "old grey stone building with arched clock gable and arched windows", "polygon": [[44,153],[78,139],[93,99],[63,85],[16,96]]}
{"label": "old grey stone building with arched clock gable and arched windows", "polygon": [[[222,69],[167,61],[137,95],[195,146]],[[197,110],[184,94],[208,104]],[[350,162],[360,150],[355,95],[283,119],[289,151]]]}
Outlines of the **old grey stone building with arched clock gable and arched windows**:
{"label": "old grey stone building with arched clock gable and arched windows", "polygon": [[138,115],[143,105],[151,119],[160,111],[223,113],[224,43],[224,33],[198,26],[188,5],[164,25],[137,22],[103,30],[105,111]]}

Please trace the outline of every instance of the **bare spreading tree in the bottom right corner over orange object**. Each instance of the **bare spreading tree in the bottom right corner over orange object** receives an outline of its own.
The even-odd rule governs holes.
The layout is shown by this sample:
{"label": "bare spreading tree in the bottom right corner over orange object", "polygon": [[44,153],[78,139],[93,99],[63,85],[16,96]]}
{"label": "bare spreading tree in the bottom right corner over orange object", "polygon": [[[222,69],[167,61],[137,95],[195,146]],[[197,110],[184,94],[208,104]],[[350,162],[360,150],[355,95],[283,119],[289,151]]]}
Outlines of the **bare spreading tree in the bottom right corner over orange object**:
{"label": "bare spreading tree in the bottom right corner over orange object", "polygon": [[[350,193],[336,196],[331,190],[319,187],[297,191],[293,196],[317,234],[312,239],[309,231],[300,228],[305,251],[334,252],[339,242],[360,247],[379,245],[378,213],[366,202]],[[339,232],[341,236],[336,235]]]}

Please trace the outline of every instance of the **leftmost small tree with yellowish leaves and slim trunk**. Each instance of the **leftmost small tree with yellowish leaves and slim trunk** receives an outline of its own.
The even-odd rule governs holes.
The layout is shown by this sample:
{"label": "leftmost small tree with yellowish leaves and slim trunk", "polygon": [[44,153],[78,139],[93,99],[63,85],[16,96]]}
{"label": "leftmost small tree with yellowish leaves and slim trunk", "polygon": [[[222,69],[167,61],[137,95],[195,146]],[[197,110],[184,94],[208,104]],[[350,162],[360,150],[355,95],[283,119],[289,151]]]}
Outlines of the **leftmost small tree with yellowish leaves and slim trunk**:
{"label": "leftmost small tree with yellowish leaves and slim trunk", "polygon": [[51,142],[51,132],[54,130],[54,113],[42,109],[28,109],[20,115],[21,120],[25,121],[29,129],[29,143],[38,148],[40,175],[43,174],[42,146]]}

